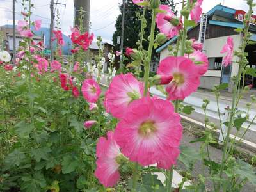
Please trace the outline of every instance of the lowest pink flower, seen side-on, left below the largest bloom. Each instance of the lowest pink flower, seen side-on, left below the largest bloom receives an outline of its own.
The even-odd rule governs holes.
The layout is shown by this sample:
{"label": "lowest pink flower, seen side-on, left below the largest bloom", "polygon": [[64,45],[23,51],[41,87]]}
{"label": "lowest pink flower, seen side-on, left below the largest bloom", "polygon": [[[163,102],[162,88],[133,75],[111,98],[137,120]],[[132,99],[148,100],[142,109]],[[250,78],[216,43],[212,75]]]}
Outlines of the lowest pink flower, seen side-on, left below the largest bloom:
{"label": "lowest pink flower, seen side-on, left below the largest bloom", "polygon": [[122,154],[113,136],[113,132],[109,131],[108,140],[100,137],[96,147],[97,168],[95,170],[95,177],[106,188],[115,186],[116,182],[120,179],[120,173],[118,172],[120,164],[116,160]]}

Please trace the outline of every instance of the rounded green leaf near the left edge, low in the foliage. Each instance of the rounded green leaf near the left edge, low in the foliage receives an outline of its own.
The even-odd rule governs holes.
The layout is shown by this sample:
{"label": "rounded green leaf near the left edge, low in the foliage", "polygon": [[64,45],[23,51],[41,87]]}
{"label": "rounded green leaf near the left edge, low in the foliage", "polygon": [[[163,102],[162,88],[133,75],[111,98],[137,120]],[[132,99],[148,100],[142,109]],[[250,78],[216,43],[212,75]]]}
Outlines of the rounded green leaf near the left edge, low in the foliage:
{"label": "rounded green leaf near the left edge, low in the foliage", "polygon": [[17,148],[13,150],[12,153],[8,154],[6,158],[4,159],[4,162],[7,163],[10,166],[19,166],[21,163],[24,162],[26,159],[26,156],[24,152],[22,152],[21,148]]}

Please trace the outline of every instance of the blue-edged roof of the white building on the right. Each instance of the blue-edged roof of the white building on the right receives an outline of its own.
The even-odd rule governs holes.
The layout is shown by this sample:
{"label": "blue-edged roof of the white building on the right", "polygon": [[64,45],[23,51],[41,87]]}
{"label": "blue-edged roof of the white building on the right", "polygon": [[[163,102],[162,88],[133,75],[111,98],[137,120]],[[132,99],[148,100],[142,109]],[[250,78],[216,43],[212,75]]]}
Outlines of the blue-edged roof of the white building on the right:
{"label": "blue-edged roof of the white building on the right", "polygon": [[[218,15],[221,17],[225,17],[228,19],[234,19],[234,14],[236,13],[236,10],[234,8],[229,8],[227,6],[223,6],[221,4],[218,4],[214,6],[209,12],[207,12],[207,17],[211,17],[212,15]],[[200,24],[200,21],[196,24],[198,26]],[[244,24],[243,22],[234,20],[234,22],[223,22],[223,21],[218,21],[218,20],[209,20],[209,24],[211,25],[217,25],[217,26],[225,26],[225,27],[230,27],[230,28],[243,28]],[[196,27],[195,26],[195,27]],[[193,27],[193,28],[195,28]],[[188,28],[188,32],[193,29],[192,27]],[[250,30],[256,31],[256,26],[250,26]],[[165,49],[168,45],[172,44],[177,40],[178,36],[174,36],[172,39],[168,40],[165,44],[161,45],[158,49],[156,49],[156,52],[161,52],[163,49]]]}

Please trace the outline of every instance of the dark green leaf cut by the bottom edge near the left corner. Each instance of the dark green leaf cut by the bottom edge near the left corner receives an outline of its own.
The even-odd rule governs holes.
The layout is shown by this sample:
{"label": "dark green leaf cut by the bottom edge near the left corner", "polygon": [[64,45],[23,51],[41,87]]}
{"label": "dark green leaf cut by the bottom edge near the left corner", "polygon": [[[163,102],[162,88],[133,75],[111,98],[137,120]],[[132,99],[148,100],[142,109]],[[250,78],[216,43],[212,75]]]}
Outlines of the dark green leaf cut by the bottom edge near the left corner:
{"label": "dark green leaf cut by the bottom edge near the left corner", "polygon": [[26,175],[21,177],[23,183],[20,189],[26,192],[41,192],[42,188],[46,187],[46,181],[44,175],[40,172],[36,172],[33,175]]}

